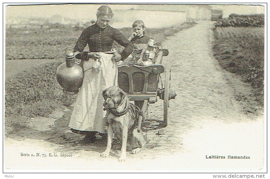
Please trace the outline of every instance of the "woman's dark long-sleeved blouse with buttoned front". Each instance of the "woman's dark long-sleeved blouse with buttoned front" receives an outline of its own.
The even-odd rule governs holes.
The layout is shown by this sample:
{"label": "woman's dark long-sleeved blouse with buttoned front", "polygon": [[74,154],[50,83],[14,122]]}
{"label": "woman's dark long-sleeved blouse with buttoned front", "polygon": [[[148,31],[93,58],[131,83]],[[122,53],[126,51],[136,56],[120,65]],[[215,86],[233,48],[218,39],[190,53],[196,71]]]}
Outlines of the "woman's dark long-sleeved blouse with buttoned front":
{"label": "woman's dark long-sleeved blouse with buttoned front", "polygon": [[[74,47],[74,51],[82,52],[86,44],[88,44],[90,52],[111,51],[114,40],[125,47],[120,54],[121,60],[126,59],[133,51],[133,45],[120,31],[111,26],[107,26],[105,29],[100,28],[97,24],[87,27],[82,31]],[[86,60],[87,54],[88,52],[80,53],[76,58]]]}

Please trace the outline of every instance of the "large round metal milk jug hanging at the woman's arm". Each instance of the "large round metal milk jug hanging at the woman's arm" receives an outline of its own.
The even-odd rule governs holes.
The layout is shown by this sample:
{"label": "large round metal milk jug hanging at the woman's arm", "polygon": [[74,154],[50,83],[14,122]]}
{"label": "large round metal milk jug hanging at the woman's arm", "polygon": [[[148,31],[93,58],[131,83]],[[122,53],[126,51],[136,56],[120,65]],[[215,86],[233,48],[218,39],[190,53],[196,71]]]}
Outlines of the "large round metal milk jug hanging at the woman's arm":
{"label": "large round metal milk jug hanging at the woman's arm", "polygon": [[[72,48],[72,51],[67,51],[68,48]],[[75,56],[80,52],[73,52],[73,47],[67,47],[65,49],[65,62],[59,65],[56,70],[57,82],[63,88],[63,92],[69,95],[74,95],[79,92],[79,88],[82,86],[84,71],[79,63],[75,62]]]}

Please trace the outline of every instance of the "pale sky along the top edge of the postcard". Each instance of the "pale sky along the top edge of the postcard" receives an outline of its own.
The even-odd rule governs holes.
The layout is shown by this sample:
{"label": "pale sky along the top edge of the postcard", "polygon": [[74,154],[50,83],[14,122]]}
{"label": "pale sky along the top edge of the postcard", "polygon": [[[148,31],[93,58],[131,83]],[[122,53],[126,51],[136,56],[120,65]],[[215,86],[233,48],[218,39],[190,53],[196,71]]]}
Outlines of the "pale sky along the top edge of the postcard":
{"label": "pale sky along the top edge of the postcard", "polygon": [[[6,6],[6,17],[44,17],[49,18],[59,14],[72,19],[94,19],[100,4],[61,4],[61,5],[23,5]],[[134,4],[110,4],[112,10],[136,8]],[[230,14],[260,14],[264,6],[255,5],[212,5],[214,9],[223,10],[223,17]],[[5,8],[5,6],[4,6]],[[82,13],[83,12],[83,13]]]}

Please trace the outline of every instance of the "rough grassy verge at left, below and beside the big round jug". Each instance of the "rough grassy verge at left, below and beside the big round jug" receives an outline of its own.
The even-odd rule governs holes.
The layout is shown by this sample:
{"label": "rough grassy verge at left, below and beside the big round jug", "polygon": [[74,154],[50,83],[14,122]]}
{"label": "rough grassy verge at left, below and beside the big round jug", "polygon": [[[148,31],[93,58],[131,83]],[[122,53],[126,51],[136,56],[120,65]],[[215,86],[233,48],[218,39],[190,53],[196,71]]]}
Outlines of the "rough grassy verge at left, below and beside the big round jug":
{"label": "rough grassy verge at left, below and beside the big round jug", "polygon": [[57,83],[56,69],[60,64],[48,63],[6,79],[5,134],[27,127],[32,117],[49,116],[54,109],[75,101],[76,95],[66,95]]}

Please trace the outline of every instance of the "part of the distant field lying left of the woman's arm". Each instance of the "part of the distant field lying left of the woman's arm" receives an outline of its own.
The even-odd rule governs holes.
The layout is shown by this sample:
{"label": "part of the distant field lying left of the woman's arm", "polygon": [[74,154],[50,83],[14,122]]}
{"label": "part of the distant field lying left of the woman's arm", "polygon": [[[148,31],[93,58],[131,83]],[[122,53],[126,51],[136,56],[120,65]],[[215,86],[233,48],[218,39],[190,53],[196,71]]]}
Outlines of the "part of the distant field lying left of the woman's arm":
{"label": "part of the distant field lying left of the woman's arm", "polygon": [[57,59],[74,46],[82,31],[66,29],[7,29],[6,59]]}

